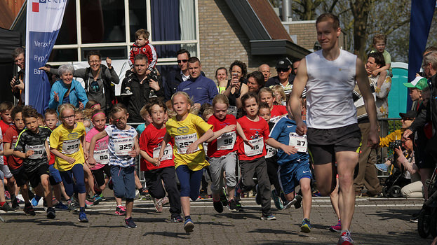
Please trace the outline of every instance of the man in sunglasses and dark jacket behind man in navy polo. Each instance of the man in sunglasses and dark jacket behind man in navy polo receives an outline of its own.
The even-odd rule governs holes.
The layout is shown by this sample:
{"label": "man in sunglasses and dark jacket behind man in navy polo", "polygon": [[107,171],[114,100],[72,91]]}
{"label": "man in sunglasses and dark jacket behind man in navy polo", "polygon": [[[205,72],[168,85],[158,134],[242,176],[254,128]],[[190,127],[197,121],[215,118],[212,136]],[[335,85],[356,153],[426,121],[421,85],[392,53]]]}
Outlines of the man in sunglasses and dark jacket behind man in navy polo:
{"label": "man in sunglasses and dark jacket behind man in navy polo", "polygon": [[[177,87],[179,87],[180,83],[189,79],[188,72],[188,59],[191,57],[188,50],[181,49],[176,52],[177,57],[177,66],[179,69],[175,71],[170,71],[168,76],[166,76],[166,80],[163,82],[164,88],[164,97],[166,102],[169,101],[172,95],[177,92]],[[201,71],[202,76],[205,76],[205,73]]]}

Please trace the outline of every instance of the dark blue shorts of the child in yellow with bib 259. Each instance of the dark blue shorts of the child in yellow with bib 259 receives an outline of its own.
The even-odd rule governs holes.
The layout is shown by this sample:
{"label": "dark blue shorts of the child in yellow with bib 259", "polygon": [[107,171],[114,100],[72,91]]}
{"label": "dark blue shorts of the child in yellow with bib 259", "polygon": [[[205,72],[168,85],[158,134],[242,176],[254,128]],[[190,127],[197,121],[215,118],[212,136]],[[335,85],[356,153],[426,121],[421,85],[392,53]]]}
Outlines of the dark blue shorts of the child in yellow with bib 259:
{"label": "dark blue shorts of the child in yellow with bib 259", "polygon": [[86,193],[83,165],[76,164],[72,169],[60,171],[59,174],[61,175],[62,183],[64,183],[65,193],[69,197],[72,197],[74,193]]}

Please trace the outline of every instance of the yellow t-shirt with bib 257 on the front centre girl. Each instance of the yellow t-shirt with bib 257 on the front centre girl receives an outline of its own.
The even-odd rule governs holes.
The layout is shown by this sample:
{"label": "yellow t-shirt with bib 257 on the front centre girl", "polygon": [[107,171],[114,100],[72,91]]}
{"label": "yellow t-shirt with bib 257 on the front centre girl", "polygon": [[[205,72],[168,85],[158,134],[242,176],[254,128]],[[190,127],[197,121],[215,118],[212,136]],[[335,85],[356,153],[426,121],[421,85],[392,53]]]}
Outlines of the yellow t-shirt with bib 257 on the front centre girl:
{"label": "yellow t-shirt with bib 257 on the front centre girl", "polygon": [[197,146],[197,151],[187,154],[188,146],[199,139],[212,125],[206,123],[199,116],[188,113],[187,118],[182,121],[177,121],[176,118],[171,118],[166,123],[167,133],[175,139],[173,147],[173,155],[175,156],[175,167],[187,165],[192,171],[203,169],[209,165],[205,160],[205,151],[200,144]]}

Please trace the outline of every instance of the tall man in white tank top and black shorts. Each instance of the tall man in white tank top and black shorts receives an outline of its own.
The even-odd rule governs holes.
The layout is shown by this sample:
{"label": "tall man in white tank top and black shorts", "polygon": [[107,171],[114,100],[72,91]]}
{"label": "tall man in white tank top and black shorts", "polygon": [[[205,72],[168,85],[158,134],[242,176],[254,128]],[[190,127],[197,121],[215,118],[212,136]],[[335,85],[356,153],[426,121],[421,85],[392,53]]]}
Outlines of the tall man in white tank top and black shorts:
{"label": "tall man in white tank top and black shorts", "polygon": [[[321,195],[332,193],[336,186],[335,176],[339,176],[342,235],[338,244],[353,244],[349,228],[355,207],[354,169],[361,145],[361,132],[352,99],[355,82],[363,95],[371,127],[369,140],[363,144],[372,147],[377,146],[379,141],[375,101],[361,59],[338,47],[341,29],[337,16],[330,13],[320,15],[316,20],[316,30],[322,50],[302,59],[297,68],[290,107],[297,123],[297,134],[307,134]],[[305,87],[308,126],[300,116],[299,98]]]}

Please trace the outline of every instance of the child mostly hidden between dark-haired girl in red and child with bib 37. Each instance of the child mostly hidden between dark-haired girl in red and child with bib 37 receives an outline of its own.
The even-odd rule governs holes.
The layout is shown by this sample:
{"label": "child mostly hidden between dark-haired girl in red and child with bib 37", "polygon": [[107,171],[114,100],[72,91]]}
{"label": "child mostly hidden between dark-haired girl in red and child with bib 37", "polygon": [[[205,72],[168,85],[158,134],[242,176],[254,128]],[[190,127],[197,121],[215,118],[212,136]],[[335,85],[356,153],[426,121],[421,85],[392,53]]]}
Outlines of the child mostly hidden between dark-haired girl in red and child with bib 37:
{"label": "child mostly hidden between dark-haired girl in red and child with bib 37", "polygon": [[[274,123],[270,122],[270,107],[269,104],[265,102],[260,103],[260,109],[258,110],[258,116],[266,120],[266,122],[269,123],[269,130],[275,125]],[[266,144],[266,163],[267,163],[267,174],[269,174],[269,181],[270,183],[275,187],[274,190],[271,190],[271,199],[273,199],[273,202],[275,204],[276,209],[282,210],[283,209],[283,202],[285,202],[285,198],[283,198],[282,202],[280,197],[283,197],[281,195],[281,185],[279,184],[278,179],[278,158],[276,157],[276,148],[273,148]],[[255,200],[257,201],[257,204],[260,202],[260,195],[257,195]]]}

